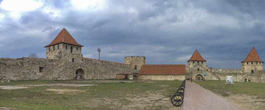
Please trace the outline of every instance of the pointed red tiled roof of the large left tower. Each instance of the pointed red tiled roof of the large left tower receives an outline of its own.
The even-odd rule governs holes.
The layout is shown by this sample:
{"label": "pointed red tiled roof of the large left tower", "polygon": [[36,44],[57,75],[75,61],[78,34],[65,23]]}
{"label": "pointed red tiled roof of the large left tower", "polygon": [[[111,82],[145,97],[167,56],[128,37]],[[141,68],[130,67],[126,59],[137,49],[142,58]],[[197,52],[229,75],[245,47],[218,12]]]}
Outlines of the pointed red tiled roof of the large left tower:
{"label": "pointed red tiled roof of the large left tower", "polygon": [[61,32],[54,38],[54,40],[45,47],[49,47],[59,43],[67,43],[83,47],[81,44],[77,43],[77,41],[70,35],[70,33],[65,28],[63,28]]}

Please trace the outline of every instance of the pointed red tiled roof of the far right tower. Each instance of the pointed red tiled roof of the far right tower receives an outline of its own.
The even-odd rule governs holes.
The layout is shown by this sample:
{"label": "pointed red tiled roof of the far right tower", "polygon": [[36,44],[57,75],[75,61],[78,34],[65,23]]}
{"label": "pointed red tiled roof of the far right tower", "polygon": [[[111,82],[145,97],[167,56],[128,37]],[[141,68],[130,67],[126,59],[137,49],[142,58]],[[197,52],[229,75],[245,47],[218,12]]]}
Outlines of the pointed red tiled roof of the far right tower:
{"label": "pointed red tiled roof of the far right tower", "polygon": [[[256,49],[253,47],[252,50],[248,53],[246,56],[245,60],[242,62],[262,62],[261,59],[258,56],[258,53]],[[241,63],[242,63],[241,62]],[[264,63],[264,62],[262,62]]]}

